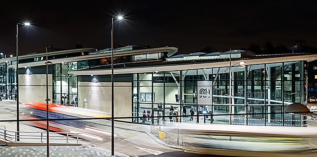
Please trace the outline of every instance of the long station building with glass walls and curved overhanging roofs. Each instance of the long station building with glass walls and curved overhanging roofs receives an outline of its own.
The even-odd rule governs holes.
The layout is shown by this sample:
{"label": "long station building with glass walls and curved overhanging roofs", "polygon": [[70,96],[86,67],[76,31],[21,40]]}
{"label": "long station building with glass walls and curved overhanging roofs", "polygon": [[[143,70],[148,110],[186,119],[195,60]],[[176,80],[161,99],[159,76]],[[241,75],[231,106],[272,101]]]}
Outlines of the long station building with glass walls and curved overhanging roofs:
{"label": "long station building with glass walls and curved overhanging roofs", "polygon": [[[317,54],[248,51],[174,55],[177,48],[114,50],[114,113],[133,123],[189,122],[306,126],[284,113],[307,95],[307,63]],[[111,49],[48,52],[51,103],[111,112]],[[45,102],[45,53],[19,57],[19,101]],[[1,93],[16,97],[16,59],[1,66]],[[191,115],[191,110],[194,115]],[[143,112],[150,116],[143,118]],[[147,115],[146,115],[147,116]]]}

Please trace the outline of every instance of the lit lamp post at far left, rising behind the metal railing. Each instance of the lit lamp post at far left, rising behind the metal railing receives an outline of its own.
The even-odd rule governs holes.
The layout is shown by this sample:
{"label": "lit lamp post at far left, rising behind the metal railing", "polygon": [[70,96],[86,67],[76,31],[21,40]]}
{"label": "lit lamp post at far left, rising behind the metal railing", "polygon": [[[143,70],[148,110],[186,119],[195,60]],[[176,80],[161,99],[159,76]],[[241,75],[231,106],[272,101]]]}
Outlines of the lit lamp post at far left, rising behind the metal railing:
{"label": "lit lamp post at far left, rising behind the metal railing", "polygon": [[18,26],[25,25],[29,26],[30,23],[16,23],[16,134],[17,134],[17,141],[20,141],[20,117],[19,117],[19,37],[18,37]]}

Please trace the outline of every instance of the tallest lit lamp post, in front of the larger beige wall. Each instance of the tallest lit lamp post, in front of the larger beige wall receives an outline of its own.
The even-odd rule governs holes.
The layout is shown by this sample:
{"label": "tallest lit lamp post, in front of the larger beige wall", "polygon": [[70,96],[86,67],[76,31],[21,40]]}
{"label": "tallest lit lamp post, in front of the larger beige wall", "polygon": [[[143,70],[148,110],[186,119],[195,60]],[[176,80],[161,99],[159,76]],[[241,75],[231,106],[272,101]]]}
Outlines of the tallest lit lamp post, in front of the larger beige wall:
{"label": "tallest lit lamp post, in front of the larger beige wall", "polygon": [[123,19],[122,16],[111,18],[111,156],[114,156],[114,100],[113,100],[113,19]]}

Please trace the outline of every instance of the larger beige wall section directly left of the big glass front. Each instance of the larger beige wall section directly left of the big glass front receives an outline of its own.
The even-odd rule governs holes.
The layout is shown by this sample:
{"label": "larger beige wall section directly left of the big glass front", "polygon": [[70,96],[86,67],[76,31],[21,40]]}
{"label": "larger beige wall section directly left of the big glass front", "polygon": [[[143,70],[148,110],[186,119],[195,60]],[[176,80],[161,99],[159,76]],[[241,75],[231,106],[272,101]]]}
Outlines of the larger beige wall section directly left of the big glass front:
{"label": "larger beige wall section directly left of the big glass front", "polygon": [[[131,117],[132,83],[114,82],[113,93],[115,117]],[[78,82],[78,107],[111,113],[111,82]],[[131,119],[119,120],[132,121]]]}

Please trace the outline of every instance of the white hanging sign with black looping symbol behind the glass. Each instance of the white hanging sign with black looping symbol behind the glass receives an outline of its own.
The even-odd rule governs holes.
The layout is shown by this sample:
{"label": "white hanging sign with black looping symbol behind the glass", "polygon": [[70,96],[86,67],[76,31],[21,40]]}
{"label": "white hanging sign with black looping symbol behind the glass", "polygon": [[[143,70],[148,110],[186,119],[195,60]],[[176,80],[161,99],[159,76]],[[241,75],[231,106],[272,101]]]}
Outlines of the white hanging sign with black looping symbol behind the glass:
{"label": "white hanging sign with black looping symbol behind the glass", "polygon": [[198,81],[197,92],[198,105],[211,105],[212,81]]}

